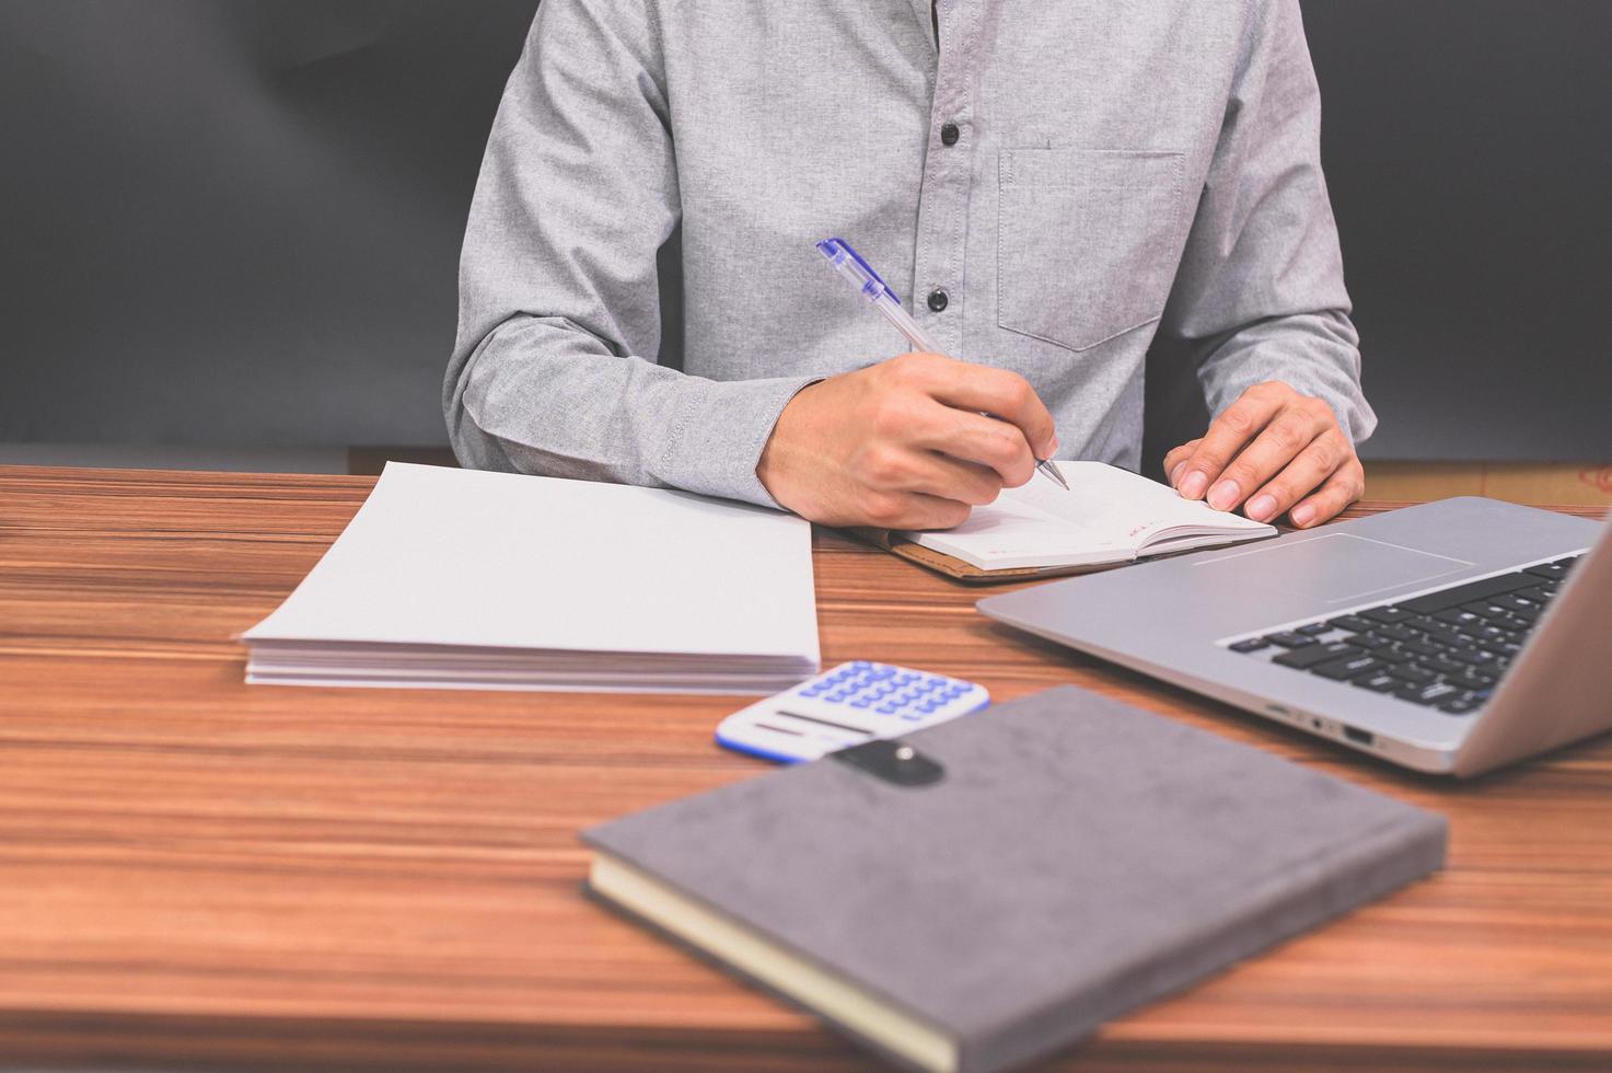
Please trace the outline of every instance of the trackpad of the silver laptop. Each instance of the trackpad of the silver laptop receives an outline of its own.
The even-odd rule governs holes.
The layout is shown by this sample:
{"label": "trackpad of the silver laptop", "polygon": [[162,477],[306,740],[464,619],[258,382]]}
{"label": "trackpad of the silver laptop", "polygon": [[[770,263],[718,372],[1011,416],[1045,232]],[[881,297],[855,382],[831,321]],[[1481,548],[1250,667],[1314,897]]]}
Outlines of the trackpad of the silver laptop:
{"label": "trackpad of the silver laptop", "polygon": [[1475,563],[1352,532],[1327,532],[1309,541],[1222,555],[1199,562],[1198,566],[1212,571],[1233,570],[1240,586],[1257,586],[1332,605],[1352,603],[1419,581],[1459,574]]}

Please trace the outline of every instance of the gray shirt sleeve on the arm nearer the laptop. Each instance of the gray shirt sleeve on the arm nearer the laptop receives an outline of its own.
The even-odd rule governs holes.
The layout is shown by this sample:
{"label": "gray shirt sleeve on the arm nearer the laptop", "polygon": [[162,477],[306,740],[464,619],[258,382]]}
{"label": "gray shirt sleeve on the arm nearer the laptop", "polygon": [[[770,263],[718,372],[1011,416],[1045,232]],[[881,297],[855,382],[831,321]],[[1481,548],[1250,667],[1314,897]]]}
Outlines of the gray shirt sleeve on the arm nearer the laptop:
{"label": "gray shirt sleeve on the arm nearer the laptop", "polygon": [[1359,442],[1377,415],[1349,308],[1299,5],[1257,0],[1159,331],[1194,353],[1211,413],[1283,381],[1323,399]]}

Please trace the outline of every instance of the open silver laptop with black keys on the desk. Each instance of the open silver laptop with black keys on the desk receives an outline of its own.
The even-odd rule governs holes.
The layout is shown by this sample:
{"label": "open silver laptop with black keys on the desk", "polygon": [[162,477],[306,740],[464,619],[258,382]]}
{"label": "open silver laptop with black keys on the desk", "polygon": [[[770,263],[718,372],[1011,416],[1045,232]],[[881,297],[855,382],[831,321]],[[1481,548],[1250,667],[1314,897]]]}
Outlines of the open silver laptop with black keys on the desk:
{"label": "open silver laptop with black keys on the desk", "polygon": [[1472,776],[1612,728],[1612,524],[1491,499],[978,608],[1419,771]]}

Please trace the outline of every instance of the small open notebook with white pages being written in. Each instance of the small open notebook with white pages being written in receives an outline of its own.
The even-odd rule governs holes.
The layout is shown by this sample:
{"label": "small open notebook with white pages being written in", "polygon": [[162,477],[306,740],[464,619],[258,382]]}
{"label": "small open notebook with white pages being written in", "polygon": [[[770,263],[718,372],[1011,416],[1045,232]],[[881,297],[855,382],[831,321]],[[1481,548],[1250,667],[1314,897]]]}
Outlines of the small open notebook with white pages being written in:
{"label": "small open notebook with white pages being written in", "polygon": [[1149,555],[1275,536],[1273,526],[1182,499],[1175,489],[1101,461],[1059,461],[1045,476],[975,507],[956,529],[867,532],[890,550],[966,581],[1078,573]]}

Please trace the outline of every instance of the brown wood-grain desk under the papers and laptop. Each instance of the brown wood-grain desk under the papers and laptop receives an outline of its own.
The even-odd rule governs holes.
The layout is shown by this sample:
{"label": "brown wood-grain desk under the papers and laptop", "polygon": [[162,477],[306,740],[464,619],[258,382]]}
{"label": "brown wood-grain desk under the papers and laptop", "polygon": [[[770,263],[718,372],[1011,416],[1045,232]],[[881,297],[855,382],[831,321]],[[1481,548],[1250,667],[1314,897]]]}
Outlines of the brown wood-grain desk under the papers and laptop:
{"label": "brown wood-grain desk under the papers and laptop", "polygon": [[[732,699],[247,687],[369,478],[0,470],[0,1063],[862,1070],[579,894],[577,831],[761,770]],[[713,579],[719,582],[719,579]],[[824,657],[1078,683],[1451,816],[1451,866],[1059,1068],[1612,1063],[1612,741],[1457,786],[817,537]]]}

